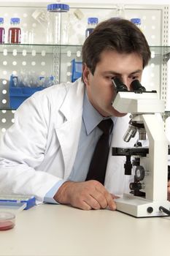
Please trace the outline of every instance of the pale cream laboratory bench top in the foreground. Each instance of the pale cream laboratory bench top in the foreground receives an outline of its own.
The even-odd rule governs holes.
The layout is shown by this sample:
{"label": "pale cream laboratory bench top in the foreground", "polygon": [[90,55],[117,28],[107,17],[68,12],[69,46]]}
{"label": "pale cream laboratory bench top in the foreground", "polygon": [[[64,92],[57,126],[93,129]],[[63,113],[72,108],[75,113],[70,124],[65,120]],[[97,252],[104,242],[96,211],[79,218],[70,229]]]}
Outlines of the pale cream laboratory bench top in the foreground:
{"label": "pale cream laboratory bench top in the foreground", "polygon": [[170,217],[136,219],[118,211],[39,205],[0,231],[3,256],[169,255]]}

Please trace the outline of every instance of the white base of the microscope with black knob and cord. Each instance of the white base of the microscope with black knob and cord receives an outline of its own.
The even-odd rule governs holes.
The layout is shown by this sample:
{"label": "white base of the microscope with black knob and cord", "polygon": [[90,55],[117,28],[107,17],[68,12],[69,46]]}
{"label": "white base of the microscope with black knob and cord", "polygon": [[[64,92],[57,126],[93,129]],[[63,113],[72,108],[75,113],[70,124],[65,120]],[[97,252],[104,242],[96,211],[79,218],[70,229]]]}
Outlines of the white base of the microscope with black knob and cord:
{"label": "white base of the microscope with black knob and cord", "polygon": [[142,197],[136,197],[131,194],[124,194],[115,200],[117,205],[117,211],[121,211],[125,214],[130,214],[134,217],[162,217],[168,216],[159,210],[160,206],[170,208],[170,202],[168,200],[151,201]]}

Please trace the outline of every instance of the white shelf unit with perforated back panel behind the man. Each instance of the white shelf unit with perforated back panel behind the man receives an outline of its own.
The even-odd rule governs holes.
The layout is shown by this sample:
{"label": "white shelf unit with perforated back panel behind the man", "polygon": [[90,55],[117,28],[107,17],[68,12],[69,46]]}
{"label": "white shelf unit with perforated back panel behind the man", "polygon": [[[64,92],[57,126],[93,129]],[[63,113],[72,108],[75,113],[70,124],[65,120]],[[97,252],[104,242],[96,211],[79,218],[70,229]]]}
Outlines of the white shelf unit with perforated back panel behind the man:
{"label": "white shelf unit with perforated back panel behind the man", "polygon": [[[46,10],[49,3],[1,3],[0,17],[9,20],[17,15],[21,20],[23,34],[34,31],[34,43],[24,42],[20,45],[0,45],[0,136],[1,133],[14,122],[14,110],[9,109],[9,78],[10,75],[30,73],[37,75],[52,75],[56,83],[71,80],[71,61],[81,61],[81,48],[85,39],[85,28],[88,17],[94,15],[98,20],[117,16],[120,8],[117,4],[72,4],[69,10],[68,42],[63,45],[47,45],[47,30],[34,20],[32,13],[36,9]],[[122,7],[122,5],[121,5]],[[75,21],[75,10],[82,12],[82,19]],[[142,31],[147,38],[152,53],[148,67],[144,69],[142,84],[148,90],[155,89],[160,97],[166,101],[167,60],[170,46],[168,46],[169,6],[166,5],[125,5],[125,18],[141,18]],[[61,19],[62,22],[62,19]],[[62,25],[62,24],[61,24]],[[6,31],[9,25],[6,26]]]}

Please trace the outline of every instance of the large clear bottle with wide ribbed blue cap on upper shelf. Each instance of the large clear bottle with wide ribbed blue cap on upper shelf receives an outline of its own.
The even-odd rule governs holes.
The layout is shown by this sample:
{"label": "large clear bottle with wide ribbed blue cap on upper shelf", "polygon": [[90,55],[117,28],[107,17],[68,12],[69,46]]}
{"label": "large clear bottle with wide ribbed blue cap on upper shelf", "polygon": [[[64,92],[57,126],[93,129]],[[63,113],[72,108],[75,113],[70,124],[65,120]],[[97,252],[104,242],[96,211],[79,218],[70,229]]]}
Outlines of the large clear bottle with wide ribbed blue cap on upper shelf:
{"label": "large clear bottle with wide ribbed blue cap on upper shelf", "polygon": [[67,34],[68,18],[66,17],[66,13],[69,11],[69,5],[68,4],[48,4],[47,11],[49,12],[48,43],[58,44],[58,45],[61,45],[61,43],[63,44],[67,43],[68,42],[68,34]]}

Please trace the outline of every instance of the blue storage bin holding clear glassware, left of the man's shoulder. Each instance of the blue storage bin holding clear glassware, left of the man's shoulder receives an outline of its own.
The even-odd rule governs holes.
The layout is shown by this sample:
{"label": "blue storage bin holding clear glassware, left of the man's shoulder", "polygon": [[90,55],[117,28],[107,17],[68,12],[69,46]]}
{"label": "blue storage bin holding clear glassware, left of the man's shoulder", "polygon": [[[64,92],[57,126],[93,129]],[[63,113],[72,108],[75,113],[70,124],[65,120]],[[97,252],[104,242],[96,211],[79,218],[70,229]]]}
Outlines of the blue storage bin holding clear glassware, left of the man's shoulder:
{"label": "blue storage bin holding clear glassware, left of the man's shoulder", "polygon": [[26,86],[15,86],[13,76],[10,77],[9,82],[9,108],[17,109],[25,99],[30,97],[36,91],[42,91],[45,87],[26,87]]}

